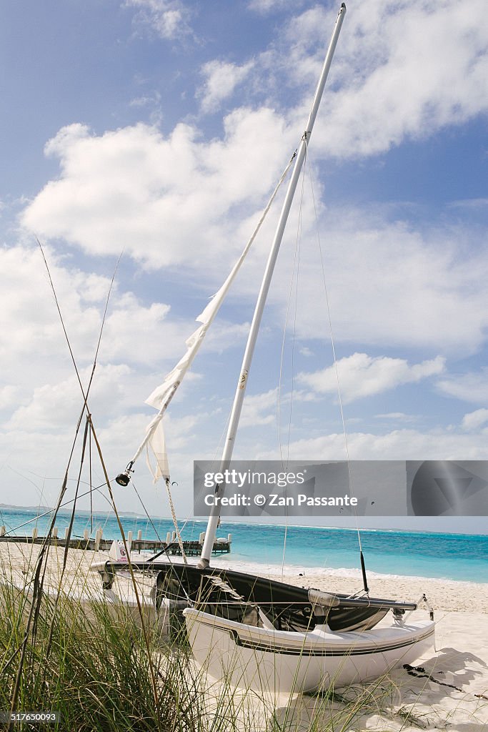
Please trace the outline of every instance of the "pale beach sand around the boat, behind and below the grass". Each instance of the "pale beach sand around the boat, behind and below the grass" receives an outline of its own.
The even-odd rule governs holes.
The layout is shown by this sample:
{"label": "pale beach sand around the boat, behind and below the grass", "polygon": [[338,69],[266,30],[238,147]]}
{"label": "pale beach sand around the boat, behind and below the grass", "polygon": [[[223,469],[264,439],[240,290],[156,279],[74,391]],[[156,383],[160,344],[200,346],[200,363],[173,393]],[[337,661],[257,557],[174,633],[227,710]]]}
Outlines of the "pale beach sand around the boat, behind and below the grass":
{"label": "pale beach sand around the boat, behind and below the grass", "polygon": [[[29,581],[39,550],[37,545],[0,542],[0,574],[3,564],[12,571],[16,583]],[[63,550],[50,550],[46,582],[51,586],[57,585],[62,556]],[[102,552],[70,550],[64,588],[100,591],[100,578],[89,568],[93,561],[100,561],[105,556]],[[282,579],[281,573],[274,577]],[[353,593],[361,589],[358,579],[328,575],[326,570],[307,573],[305,577],[299,576],[299,571],[288,572],[283,579],[329,592]],[[373,597],[396,600],[418,601],[427,594],[437,621],[435,650],[416,662],[416,670],[408,673],[400,668],[391,674],[391,680],[367,687],[368,703],[364,711],[359,717],[345,721],[343,728],[355,732],[366,729],[488,731],[488,585],[375,576],[369,580],[369,590]],[[416,616],[418,613],[421,610],[416,611]],[[422,615],[427,617],[425,613]],[[364,687],[355,687],[348,695],[362,698]],[[337,715],[334,727],[342,728],[339,720],[344,715],[344,705],[341,703],[331,704],[323,698],[299,695],[291,701],[290,698],[277,698],[274,704],[277,704],[278,720],[280,714],[282,721],[286,716],[287,730],[307,730],[310,720],[320,715],[324,717],[324,725],[328,720],[330,722],[331,716]],[[257,731],[266,729],[266,721],[262,724],[264,726],[257,722]]]}

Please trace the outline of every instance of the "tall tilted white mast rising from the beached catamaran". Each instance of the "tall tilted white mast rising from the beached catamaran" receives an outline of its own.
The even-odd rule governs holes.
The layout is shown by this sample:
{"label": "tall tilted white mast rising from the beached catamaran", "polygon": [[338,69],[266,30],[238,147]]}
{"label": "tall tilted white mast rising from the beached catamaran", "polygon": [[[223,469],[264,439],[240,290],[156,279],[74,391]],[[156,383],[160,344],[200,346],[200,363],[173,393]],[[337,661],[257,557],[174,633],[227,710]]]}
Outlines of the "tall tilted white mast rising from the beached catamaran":
{"label": "tall tilted white mast rising from the beached catamaran", "polygon": [[[264,305],[266,303],[266,297],[269,291],[269,285],[271,284],[271,277],[274,271],[274,265],[277,261],[277,255],[279,251],[279,245],[281,244],[283,233],[285,231],[285,225],[288,220],[288,214],[290,213],[290,206],[293,201],[293,195],[295,195],[296,185],[299,182],[299,176],[301,172],[301,166],[304,163],[305,154],[307,152],[307,144],[312,134],[313,125],[315,123],[315,117],[318,113],[320,100],[322,98],[323,88],[326,85],[327,76],[331,67],[332,57],[337,45],[337,39],[342,27],[342,21],[345,16],[345,3],[341,4],[339,15],[337,15],[334,32],[327,49],[326,59],[323,62],[322,72],[318,81],[317,90],[315,91],[315,97],[312,104],[312,109],[309,114],[307,127],[301,138],[299,152],[296,156],[295,168],[288,185],[288,191],[286,193],[285,202],[283,203],[282,212],[279,217],[276,233],[274,234],[274,241],[271,246],[271,252],[269,253],[268,263],[266,264],[266,270],[264,272],[263,282],[258,296],[258,302],[254,311],[254,317],[252,318],[252,325],[247,338],[246,351],[244,352],[244,359],[242,361],[241,374],[239,376],[239,382],[237,384],[236,395],[234,397],[232,411],[230,413],[230,422],[227,431],[227,437],[225,439],[225,446],[222,453],[222,460],[220,463],[220,472],[223,473],[228,468],[228,463],[232,458],[232,452],[234,447],[234,441],[236,438],[237,427],[239,425],[239,417],[241,416],[242,403],[244,401],[244,394],[247,385],[247,376],[249,374],[249,368],[251,367],[252,354],[254,353],[255,343],[258,338],[258,331],[263,316]],[[215,493],[219,498],[222,497],[225,491],[225,483],[221,483],[216,486]],[[203,542],[203,548],[201,553],[198,567],[205,569],[209,567],[211,551],[214,546],[215,535],[217,533],[217,526],[219,523],[220,511],[219,506],[213,506],[209,516],[209,523],[207,524],[207,530],[205,534],[205,541]]]}

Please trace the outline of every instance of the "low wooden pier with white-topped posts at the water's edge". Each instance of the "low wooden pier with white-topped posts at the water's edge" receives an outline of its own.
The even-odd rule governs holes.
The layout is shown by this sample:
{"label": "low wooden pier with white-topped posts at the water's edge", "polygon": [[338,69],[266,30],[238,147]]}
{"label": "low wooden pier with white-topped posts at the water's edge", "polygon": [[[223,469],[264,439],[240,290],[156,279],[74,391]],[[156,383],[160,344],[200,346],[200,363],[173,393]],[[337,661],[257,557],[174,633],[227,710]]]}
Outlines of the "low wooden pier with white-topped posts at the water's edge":
{"label": "low wooden pier with white-topped posts at the water's edge", "polygon": [[[67,538],[68,530],[64,530],[64,537],[59,537],[59,531],[57,527],[53,529],[52,536],[40,537],[37,534],[37,529],[32,529],[31,536],[16,537],[7,535],[7,531],[4,526],[0,526],[0,542],[18,542],[19,544],[48,544],[53,546],[65,547],[68,545],[70,549],[85,549],[89,551],[108,551],[113,544],[113,539],[104,539],[102,529],[97,529],[95,537],[90,537],[88,529],[83,532],[83,537],[71,537]],[[205,539],[205,533],[200,534],[198,541],[184,541],[183,548],[184,553],[187,556],[200,556],[200,552],[203,545],[203,539]],[[179,548],[178,540],[176,539],[176,532],[173,531],[171,534],[168,531],[166,534],[165,541],[159,541],[159,539],[143,539],[142,531],[139,529],[137,538],[134,538],[132,531],[127,531],[127,544],[130,546],[132,551],[151,551],[157,552],[161,550],[168,550],[168,554],[176,556],[181,555],[181,549]],[[216,539],[214,542],[214,548],[212,549],[213,554],[228,554],[230,553],[230,544],[232,543],[232,534],[228,534],[226,539]]]}

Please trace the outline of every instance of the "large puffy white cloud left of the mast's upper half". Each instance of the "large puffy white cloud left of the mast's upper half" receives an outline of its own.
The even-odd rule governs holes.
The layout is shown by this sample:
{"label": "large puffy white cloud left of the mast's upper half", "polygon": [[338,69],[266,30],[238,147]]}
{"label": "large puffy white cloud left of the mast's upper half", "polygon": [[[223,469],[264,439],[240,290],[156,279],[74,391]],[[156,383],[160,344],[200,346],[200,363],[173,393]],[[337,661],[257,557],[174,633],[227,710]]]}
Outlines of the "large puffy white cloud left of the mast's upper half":
{"label": "large puffy white cloud left of the mast's upper half", "polygon": [[230,210],[263,204],[281,172],[287,134],[269,109],[231,113],[225,138],[210,142],[187,124],[168,138],[144,124],[100,136],[64,127],[46,145],[61,176],[27,206],[23,225],[90,254],[124,249],[151,267],[221,261],[242,246]]}

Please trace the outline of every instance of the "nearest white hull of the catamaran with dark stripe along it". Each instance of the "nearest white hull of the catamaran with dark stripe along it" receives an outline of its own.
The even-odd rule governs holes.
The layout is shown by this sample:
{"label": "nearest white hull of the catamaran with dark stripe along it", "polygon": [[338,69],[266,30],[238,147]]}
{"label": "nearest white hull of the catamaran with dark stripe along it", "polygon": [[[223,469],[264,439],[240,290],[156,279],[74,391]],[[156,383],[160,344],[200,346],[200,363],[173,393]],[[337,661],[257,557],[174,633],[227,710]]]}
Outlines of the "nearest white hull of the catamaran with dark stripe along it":
{"label": "nearest white hull of the catamaran with dark stripe along it", "polygon": [[378,679],[434,642],[433,621],[364,632],[289,632],[184,610],[196,662],[215,679],[259,692],[307,692]]}

